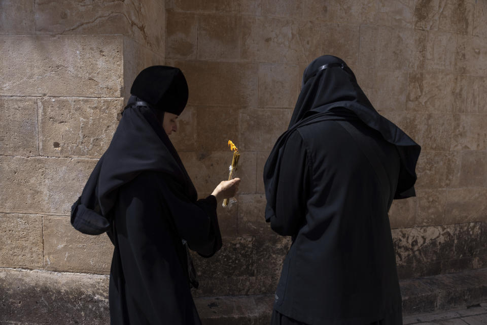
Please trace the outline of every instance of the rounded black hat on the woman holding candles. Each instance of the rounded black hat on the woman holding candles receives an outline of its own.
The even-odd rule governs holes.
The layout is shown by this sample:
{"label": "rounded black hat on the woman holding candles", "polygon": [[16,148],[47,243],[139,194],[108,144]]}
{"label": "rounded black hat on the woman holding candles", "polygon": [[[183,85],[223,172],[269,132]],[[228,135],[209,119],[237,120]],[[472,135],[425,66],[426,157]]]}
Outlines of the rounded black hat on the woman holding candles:
{"label": "rounded black hat on the woman holding candles", "polygon": [[188,84],[181,70],[152,66],[141,71],[130,93],[158,110],[179,115],[188,102]]}

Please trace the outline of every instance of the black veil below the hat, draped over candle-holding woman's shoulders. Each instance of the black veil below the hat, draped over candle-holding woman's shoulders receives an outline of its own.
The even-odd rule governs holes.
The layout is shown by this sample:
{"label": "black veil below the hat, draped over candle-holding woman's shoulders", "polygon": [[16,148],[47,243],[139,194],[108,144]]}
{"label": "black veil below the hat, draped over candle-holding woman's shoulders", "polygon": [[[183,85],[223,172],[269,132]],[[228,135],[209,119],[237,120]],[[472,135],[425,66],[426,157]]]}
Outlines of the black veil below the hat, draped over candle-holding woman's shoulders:
{"label": "black veil below the hat, draped over candle-holding woman's shoulders", "polygon": [[[171,88],[167,84],[166,89]],[[71,223],[82,233],[98,235],[110,230],[110,212],[117,200],[118,189],[143,171],[161,172],[164,177],[180,184],[181,192],[189,200],[197,199],[196,189],[156,116],[158,110],[138,100],[135,96],[130,97],[109,148],[72,207]]]}

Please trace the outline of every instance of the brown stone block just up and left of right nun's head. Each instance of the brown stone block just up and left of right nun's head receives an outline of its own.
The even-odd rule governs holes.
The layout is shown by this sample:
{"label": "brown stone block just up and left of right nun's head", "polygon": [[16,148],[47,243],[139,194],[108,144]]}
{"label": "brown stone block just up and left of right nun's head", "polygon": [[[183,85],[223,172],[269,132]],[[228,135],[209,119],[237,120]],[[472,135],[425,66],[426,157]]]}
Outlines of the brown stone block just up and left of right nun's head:
{"label": "brown stone block just up and left of right nun's head", "polygon": [[241,58],[257,62],[303,61],[303,49],[292,19],[243,17]]}

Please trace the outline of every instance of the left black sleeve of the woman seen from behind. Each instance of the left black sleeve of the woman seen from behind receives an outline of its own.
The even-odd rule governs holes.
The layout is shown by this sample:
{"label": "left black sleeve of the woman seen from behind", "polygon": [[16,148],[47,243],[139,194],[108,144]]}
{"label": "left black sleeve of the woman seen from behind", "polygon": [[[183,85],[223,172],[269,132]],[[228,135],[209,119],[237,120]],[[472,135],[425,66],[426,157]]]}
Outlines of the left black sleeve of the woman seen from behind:
{"label": "left black sleeve of the woman seen from behind", "polygon": [[304,223],[309,177],[306,148],[301,135],[296,131],[284,148],[277,183],[275,216],[270,219],[270,226],[277,234],[295,236]]}

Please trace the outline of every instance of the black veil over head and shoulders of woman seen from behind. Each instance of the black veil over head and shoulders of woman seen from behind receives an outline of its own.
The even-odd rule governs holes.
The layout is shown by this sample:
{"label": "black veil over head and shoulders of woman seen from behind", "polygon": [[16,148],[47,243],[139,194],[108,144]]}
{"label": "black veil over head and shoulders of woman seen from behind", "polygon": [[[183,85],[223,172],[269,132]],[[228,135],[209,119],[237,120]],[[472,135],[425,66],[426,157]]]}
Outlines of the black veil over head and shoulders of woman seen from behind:
{"label": "black veil over head and shoulders of woman seen from behind", "polygon": [[397,125],[373,108],[346,63],[332,55],[312,61],[304,70],[301,92],[286,131],[275,143],[264,167],[267,199],[266,219],[274,214],[275,194],[281,156],[286,141],[298,127],[324,120],[361,120],[394,144],[401,159],[401,170],[395,199],[415,196],[415,167],[421,147]]}

